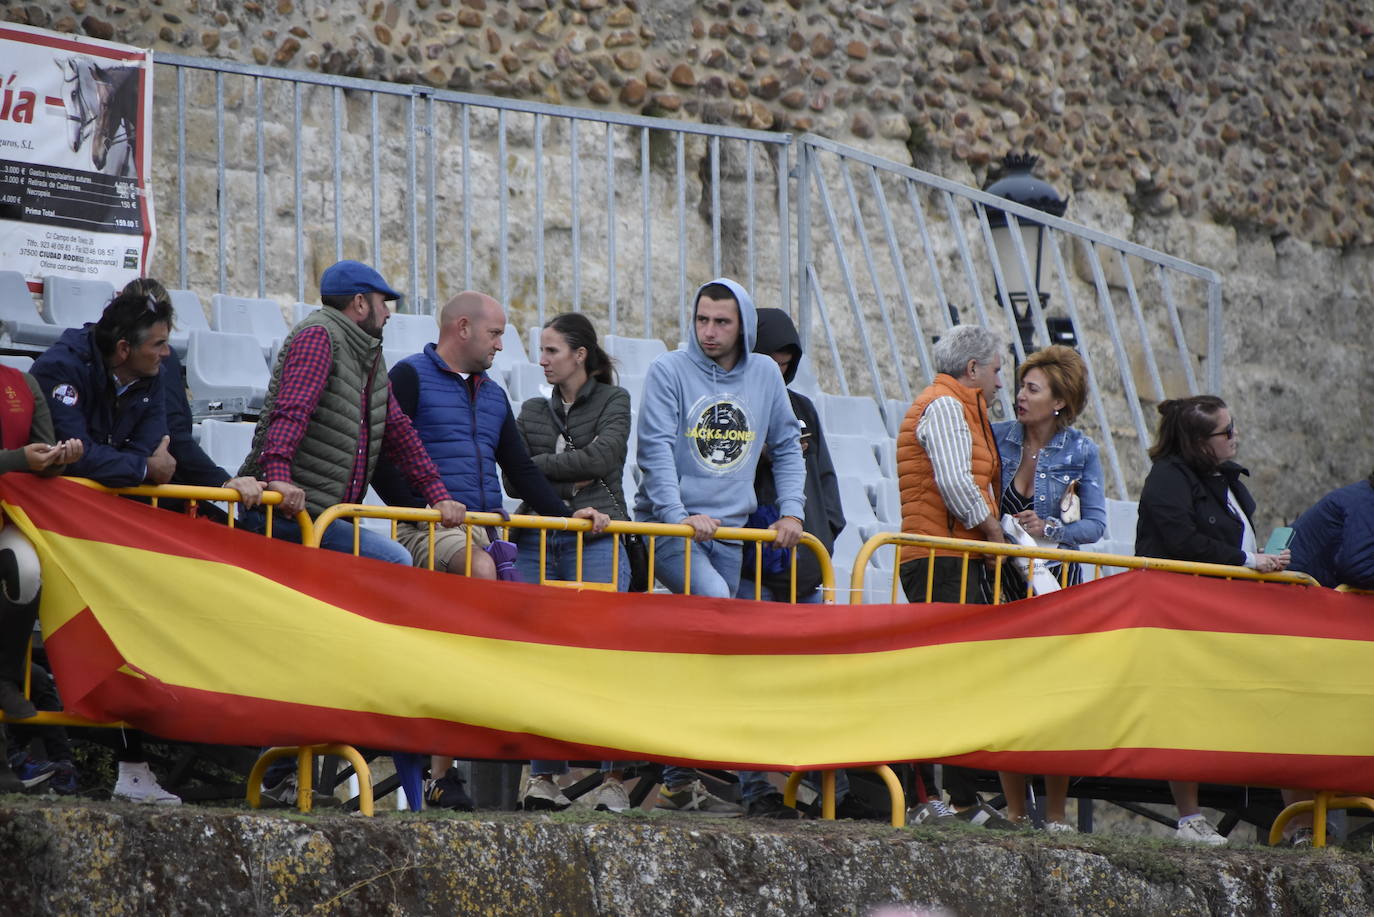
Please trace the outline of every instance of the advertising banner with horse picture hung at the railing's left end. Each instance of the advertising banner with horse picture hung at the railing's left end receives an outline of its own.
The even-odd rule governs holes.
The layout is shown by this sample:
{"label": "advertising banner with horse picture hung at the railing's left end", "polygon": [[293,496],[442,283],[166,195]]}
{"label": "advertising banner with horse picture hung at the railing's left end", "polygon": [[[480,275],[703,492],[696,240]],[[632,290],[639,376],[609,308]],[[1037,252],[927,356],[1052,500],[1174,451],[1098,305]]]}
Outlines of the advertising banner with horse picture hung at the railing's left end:
{"label": "advertising banner with horse picture hung at the railing's left end", "polygon": [[153,253],[153,52],[0,25],[0,268],[144,274]]}

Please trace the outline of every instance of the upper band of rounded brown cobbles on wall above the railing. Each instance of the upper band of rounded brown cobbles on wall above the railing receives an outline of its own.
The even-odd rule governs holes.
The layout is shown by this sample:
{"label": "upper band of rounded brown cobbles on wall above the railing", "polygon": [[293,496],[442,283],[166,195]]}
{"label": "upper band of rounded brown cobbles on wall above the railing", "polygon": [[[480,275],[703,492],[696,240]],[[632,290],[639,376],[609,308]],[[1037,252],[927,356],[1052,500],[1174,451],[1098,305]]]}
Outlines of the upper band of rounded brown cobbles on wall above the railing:
{"label": "upper band of rounded brown cobbles on wall above the railing", "polygon": [[949,154],[1323,246],[1374,242],[1362,0],[3,0],[180,54]]}

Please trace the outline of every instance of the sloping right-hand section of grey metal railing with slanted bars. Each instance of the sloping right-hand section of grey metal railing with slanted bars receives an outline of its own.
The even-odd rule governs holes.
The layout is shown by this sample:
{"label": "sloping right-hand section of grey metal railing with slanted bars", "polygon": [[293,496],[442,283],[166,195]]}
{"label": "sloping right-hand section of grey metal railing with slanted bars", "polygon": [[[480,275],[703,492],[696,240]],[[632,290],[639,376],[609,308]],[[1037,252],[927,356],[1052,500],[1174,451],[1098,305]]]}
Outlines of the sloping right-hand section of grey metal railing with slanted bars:
{"label": "sloping right-hand section of grey metal railing with slanted bars", "polygon": [[[802,348],[829,357],[842,395],[870,393],[885,415],[904,410],[889,399],[910,404],[934,377],[927,342],[955,323],[954,311],[1000,330],[1018,362],[1022,329],[1030,349],[1046,346],[1047,312],[1062,311],[1087,363],[1095,439],[1116,495],[1127,499],[1128,483],[1149,469],[1142,403],[1221,388],[1215,271],[811,133],[797,140],[794,197]],[[999,258],[989,209],[1006,214],[1014,265]],[[1018,313],[1004,278],[1036,276],[1037,253],[1020,231],[1026,223],[1046,228],[1041,289],[1050,297],[1029,297]],[[835,300],[845,307],[830,308]],[[820,341],[811,337],[813,316]],[[844,351],[845,341],[859,352]],[[856,364],[867,373],[852,373]],[[1003,382],[1000,414],[1010,419],[1010,366]],[[1118,440],[1134,441],[1128,454]]]}

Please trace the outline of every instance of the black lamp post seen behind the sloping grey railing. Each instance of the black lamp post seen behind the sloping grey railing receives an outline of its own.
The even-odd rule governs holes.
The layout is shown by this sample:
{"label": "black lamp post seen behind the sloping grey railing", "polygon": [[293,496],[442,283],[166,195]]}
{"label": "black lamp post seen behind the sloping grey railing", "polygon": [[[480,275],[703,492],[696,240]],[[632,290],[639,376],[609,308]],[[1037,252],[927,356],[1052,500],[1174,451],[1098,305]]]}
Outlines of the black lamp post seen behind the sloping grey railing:
{"label": "black lamp post seen behind the sloping grey railing", "polygon": [[[984,191],[1052,216],[1063,216],[1065,209],[1069,206],[1068,199],[1061,198],[1052,187],[1032,175],[1036,162],[1037,158],[1029,153],[1009,153],[1002,158],[1002,175],[996,181],[985,187]],[[988,227],[992,230],[992,243],[996,249],[998,263],[1002,265],[1002,280],[1007,287],[1011,311],[1017,316],[1021,348],[1025,352],[1030,352],[1035,348],[1035,320],[1030,311],[1030,297],[1036,297],[1041,312],[1050,301],[1050,294],[1040,291],[1044,225],[1025,217],[1017,217],[1017,225],[1021,230],[1021,243],[1030,268],[1030,276],[1026,276],[1026,272],[1021,267],[1021,257],[1017,254],[1015,242],[1011,238],[1007,214],[991,206],[987,210]],[[1050,341],[1052,344],[1073,346],[1077,342],[1073,323],[1068,319],[1047,318],[1046,327],[1050,331]]]}

